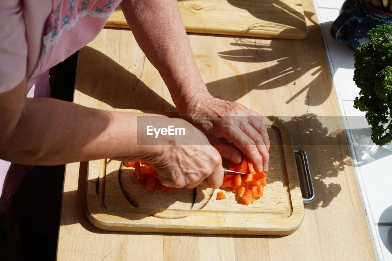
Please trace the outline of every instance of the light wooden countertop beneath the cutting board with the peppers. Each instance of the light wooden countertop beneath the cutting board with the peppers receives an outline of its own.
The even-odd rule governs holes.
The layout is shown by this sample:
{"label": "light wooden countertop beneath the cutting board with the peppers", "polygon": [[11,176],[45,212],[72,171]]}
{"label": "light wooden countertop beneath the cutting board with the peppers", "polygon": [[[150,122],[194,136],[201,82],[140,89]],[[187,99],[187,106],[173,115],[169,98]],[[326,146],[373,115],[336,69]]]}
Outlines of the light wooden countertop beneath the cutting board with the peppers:
{"label": "light wooden countertop beneath the cutting board with the peppers", "polygon": [[[189,35],[215,97],[240,102],[289,128],[307,151],[316,198],[289,236],[107,232],[85,215],[86,163],[67,164],[59,260],[374,260],[345,132],[311,1],[305,40]],[[74,102],[109,109],[175,107],[129,30],[104,29],[79,52]],[[321,117],[323,116],[323,117]]]}

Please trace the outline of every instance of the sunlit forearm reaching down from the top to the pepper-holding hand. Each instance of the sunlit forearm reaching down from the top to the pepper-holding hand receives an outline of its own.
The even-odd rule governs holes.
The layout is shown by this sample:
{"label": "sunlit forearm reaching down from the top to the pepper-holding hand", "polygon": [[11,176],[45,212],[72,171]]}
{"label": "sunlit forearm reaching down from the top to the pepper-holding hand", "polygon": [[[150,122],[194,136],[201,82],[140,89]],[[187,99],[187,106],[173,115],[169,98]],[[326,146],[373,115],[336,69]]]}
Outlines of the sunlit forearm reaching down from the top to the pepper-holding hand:
{"label": "sunlit forearm reaching down from the top to the pepper-holding hand", "polygon": [[124,0],[121,8],[147,58],[160,72],[176,107],[208,94],[176,0]]}

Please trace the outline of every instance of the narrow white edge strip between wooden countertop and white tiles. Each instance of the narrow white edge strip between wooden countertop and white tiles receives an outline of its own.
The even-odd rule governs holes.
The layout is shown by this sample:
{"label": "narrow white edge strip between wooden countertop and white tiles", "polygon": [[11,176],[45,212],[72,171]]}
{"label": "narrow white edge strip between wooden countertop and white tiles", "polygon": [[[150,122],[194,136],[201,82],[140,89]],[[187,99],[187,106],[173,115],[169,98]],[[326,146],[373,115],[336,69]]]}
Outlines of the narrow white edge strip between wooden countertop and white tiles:
{"label": "narrow white edge strip between wooden countertop and white tiles", "polygon": [[[328,51],[328,43],[325,38],[326,32],[324,31],[324,28],[322,26],[320,26],[320,24],[321,24],[321,21],[319,18],[320,13],[319,13],[318,4],[317,4],[316,0],[313,0],[313,4],[314,4],[314,10],[316,12],[317,21],[319,24],[319,29],[321,31],[321,37],[323,38],[325,54],[327,55],[328,67],[330,70],[330,75],[332,77],[332,85],[335,90],[336,99],[338,101],[338,106],[339,106],[340,115],[342,117],[343,127],[345,128],[350,157],[353,160],[355,160],[356,162],[358,162],[358,160],[356,158],[355,151],[354,151],[354,146],[352,145],[351,135],[350,135],[350,132],[348,131],[349,130],[348,123],[347,123],[345,111],[343,109],[343,102],[342,102],[340,90],[338,87],[339,85],[338,85],[338,82],[336,81],[336,78],[334,76],[332,76],[332,74],[331,74],[331,72],[334,71],[334,68],[332,66],[332,59],[331,59],[330,53]],[[329,34],[329,31],[327,33]],[[376,226],[373,222],[373,218],[372,218],[372,214],[371,214],[372,212],[370,211],[369,202],[368,202],[368,198],[367,198],[367,195],[365,192],[365,187],[363,185],[361,172],[359,171],[358,166],[353,166],[353,167],[354,167],[354,176],[355,176],[355,179],[357,182],[357,187],[359,190],[359,197],[361,198],[361,201],[362,201],[362,207],[363,207],[363,211],[365,212],[365,219],[366,219],[366,223],[368,225],[370,239],[372,240],[373,250],[376,255],[376,259],[383,260],[383,254],[381,252],[381,247],[380,247],[379,239],[377,236]]]}

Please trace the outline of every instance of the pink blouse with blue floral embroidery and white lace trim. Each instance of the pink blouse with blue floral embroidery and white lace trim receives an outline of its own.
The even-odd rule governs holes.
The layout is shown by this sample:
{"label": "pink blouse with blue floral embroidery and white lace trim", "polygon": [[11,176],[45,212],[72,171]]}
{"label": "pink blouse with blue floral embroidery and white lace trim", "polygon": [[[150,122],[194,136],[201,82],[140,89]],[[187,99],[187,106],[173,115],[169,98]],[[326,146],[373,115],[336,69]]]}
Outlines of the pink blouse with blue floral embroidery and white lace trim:
{"label": "pink blouse with blue floral embroidery and white lace trim", "polygon": [[[50,97],[49,68],[92,41],[120,2],[0,1],[0,94],[27,76],[27,97]],[[32,167],[0,160],[0,214]]]}

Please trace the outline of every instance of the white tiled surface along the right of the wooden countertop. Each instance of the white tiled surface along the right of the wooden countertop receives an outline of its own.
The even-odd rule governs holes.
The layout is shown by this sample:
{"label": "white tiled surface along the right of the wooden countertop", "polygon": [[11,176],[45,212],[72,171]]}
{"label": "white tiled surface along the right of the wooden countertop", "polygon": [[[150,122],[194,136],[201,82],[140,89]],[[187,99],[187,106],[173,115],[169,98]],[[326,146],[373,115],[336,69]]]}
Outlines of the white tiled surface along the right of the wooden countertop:
{"label": "white tiled surface along the right of the wooden countertop", "polygon": [[[370,126],[365,112],[356,110],[354,99],[359,88],[354,84],[354,51],[330,36],[333,21],[339,16],[341,0],[314,0],[316,14],[325,41],[327,58],[335,87],[359,193],[377,260],[392,261],[392,151],[372,146]],[[320,8],[325,7],[325,8]],[[348,129],[348,131],[347,131]],[[383,223],[384,225],[380,225]],[[385,223],[387,225],[385,225]]]}

